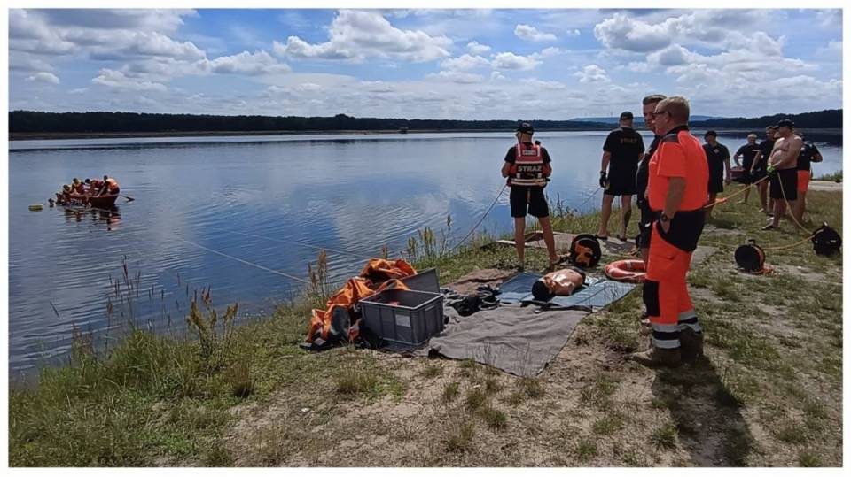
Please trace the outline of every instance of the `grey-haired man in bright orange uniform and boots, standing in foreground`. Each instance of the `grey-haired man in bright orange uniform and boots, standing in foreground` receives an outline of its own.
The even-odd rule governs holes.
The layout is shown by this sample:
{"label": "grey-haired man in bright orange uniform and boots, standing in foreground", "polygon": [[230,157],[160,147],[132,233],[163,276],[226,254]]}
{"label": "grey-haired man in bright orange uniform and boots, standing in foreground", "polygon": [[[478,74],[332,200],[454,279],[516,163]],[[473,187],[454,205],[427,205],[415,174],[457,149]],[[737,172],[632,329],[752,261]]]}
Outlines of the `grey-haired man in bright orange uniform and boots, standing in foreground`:
{"label": "grey-haired man in bright orange uniform and boots, standing in foreground", "polygon": [[703,147],[689,132],[689,112],[689,102],[680,96],[660,101],[653,112],[662,139],[647,184],[656,216],[644,281],[652,345],[631,356],[642,365],[676,367],[703,354],[703,332],[685,275],[703,232],[709,170]]}

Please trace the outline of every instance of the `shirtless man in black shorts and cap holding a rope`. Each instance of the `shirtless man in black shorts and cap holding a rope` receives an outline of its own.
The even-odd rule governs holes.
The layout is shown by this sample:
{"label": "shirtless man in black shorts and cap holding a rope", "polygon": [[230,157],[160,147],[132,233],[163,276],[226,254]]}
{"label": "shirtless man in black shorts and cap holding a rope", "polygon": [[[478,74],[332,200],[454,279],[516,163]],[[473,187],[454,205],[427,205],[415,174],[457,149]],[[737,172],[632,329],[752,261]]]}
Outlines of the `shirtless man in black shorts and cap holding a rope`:
{"label": "shirtless man in black shorts and cap holding a rope", "polygon": [[798,199],[798,155],[803,141],[795,135],[794,127],[795,123],[789,119],[782,119],[777,123],[779,138],[771,150],[766,168],[771,181],[769,195],[774,199],[774,217],[762,230],[779,227],[780,218],[786,212],[787,201],[792,210],[795,210],[795,201]]}

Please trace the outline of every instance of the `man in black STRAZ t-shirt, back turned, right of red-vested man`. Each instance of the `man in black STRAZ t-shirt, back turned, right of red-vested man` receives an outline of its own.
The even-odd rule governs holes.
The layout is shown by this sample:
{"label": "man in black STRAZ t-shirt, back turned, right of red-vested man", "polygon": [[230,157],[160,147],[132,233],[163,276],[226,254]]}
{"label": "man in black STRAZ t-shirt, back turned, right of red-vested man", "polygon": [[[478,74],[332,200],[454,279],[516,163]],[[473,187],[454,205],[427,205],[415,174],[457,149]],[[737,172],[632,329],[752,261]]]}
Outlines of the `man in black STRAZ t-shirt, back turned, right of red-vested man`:
{"label": "man in black STRAZ t-shirt, back turned, right of red-vested man", "polygon": [[603,144],[603,161],[600,165],[600,187],[604,188],[603,210],[600,212],[600,229],[597,233],[597,237],[603,240],[608,238],[609,216],[612,214],[615,196],[621,196],[621,233],[618,238],[627,240],[632,196],[636,193],[638,162],[644,155],[644,140],[632,128],[632,119],[632,112],[621,112],[621,127],[609,133]]}

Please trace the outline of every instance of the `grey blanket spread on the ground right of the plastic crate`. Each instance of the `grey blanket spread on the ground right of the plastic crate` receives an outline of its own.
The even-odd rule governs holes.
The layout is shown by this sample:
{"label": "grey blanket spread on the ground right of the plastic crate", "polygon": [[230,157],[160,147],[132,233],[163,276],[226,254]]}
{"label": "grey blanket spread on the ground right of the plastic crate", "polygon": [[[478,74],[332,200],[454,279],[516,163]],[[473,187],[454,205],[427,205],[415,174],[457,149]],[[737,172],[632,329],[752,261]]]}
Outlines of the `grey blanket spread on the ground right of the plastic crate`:
{"label": "grey blanket spread on the ground right of the plastic crate", "polygon": [[451,307],[449,324],[426,350],[447,358],[473,359],[506,373],[532,377],[555,358],[587,312],[536,312],[536,306],[503,305],[460,317]]}

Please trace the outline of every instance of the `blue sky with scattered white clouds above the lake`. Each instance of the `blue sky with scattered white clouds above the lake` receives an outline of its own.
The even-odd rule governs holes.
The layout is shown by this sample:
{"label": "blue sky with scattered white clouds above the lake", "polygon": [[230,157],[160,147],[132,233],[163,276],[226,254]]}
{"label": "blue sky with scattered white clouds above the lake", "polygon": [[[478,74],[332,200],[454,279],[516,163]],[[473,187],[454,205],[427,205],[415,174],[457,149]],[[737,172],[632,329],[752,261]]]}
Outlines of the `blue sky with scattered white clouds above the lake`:
{"label": "blue sky with scattered white clouds above the lake", "polygon": [[11,10],[10,109],[570,119],[842,106],[839,10]]}

